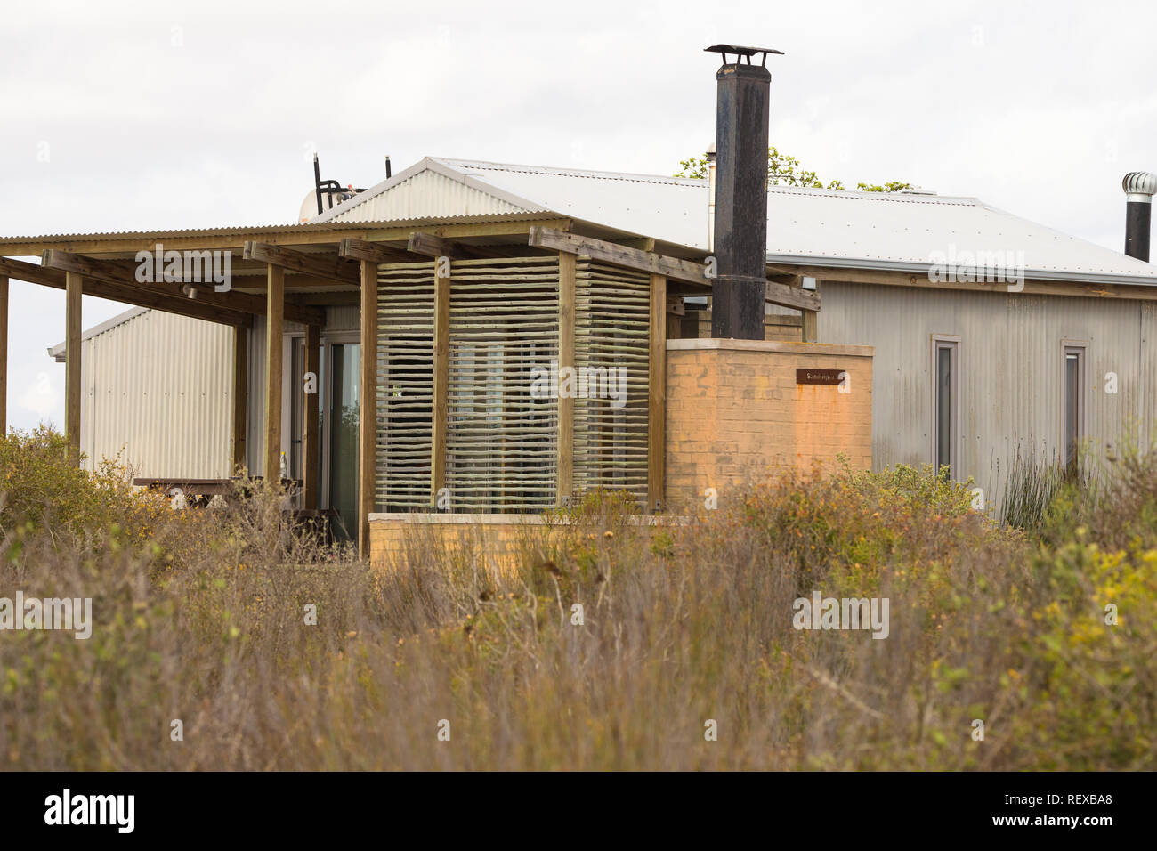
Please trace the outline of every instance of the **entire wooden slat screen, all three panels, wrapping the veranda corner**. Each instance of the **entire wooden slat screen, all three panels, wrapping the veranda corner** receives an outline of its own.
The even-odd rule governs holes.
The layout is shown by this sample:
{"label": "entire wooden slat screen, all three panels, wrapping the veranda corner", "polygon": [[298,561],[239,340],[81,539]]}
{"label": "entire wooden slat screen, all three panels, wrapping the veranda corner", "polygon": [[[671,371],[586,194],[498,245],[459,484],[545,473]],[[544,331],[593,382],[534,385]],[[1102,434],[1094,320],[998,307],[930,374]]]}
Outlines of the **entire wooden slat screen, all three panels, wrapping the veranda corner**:
{"label": "entire wooden slat screen, all three panels, wrapping the veranda corner", "polygon": [[[378,511],[430,508],[434,280],[433,261],[378,266]],[[648,296],[648,276],[578,257],[575,367],[594,383],[575,398],[575,491],[622,489],[641,506]],[[558,398],[532,395],[532,369],[557,365],[558,317],[558,257],[451,263],[450,511],[518,513],[555,504]],[[621,403],[613,397],[619,391]]]}

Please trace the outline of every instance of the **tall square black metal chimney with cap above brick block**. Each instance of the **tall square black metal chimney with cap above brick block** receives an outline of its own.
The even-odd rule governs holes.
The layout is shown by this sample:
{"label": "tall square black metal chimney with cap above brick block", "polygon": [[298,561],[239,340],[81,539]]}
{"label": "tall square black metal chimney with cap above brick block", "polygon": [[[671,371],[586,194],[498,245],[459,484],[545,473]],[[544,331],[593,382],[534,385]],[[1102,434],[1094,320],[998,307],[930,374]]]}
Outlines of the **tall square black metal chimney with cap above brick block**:
{"label": "tall square black metal chimney with cap above brick block", "polygon": [[[715,244],[718,277],[712,287],[712,337],[764,339],[767,292],[767,124],[772,75],[767,47],[716,44]],[[728,63],[728,53],[735,63]],[[751,58],[762,54],[753,65]],[[746,63],[743,59],[746,58]]]}

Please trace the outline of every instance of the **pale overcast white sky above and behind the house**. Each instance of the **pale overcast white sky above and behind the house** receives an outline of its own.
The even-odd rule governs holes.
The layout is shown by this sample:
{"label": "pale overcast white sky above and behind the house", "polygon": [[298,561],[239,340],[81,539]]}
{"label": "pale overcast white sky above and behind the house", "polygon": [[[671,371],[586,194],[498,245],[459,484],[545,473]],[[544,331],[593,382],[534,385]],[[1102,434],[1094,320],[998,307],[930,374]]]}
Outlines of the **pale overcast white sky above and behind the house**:
{"label": "pale overcast white sky above and behind the house", "polygon": [[[24,2],[0,10],[0,234],[296,221],[422,156],[672,174],[714,138],[717,42],[776,47],[772,144],[1121,250],[1157,170],[1157,6]],[[84,327],[126,306],[84,299]],[[62,423],[64,294],[13,283],[9,425]],[[178,357],[178,355],[172,355]],[[192,357],[192,355],[186,355]]]}

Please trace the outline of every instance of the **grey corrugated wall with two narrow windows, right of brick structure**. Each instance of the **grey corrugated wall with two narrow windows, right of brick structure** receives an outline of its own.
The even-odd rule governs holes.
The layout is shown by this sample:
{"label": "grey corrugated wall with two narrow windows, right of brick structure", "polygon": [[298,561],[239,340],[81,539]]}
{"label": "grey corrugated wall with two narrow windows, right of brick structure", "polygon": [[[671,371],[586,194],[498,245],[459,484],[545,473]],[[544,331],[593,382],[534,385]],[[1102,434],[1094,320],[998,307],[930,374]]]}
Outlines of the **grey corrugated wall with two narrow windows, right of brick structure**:
{"label": "grey corrugated wall with two narrow windows, right of brick structure", "polygon": [[[1016,443],[1059,453],[1063,344],[1088,345],[1086,430],[1103,452],[1157,424],[1157,306],[824,281],[820,343],[876,347],[872,464],[933,461],[933,335],[960,337],[960,478],[1000,502]],[[1105,393],[1117,373],[1119,393]],[[1138,436],[1144,436],[1138,434]],[[997,474],[997,468],[1001,470]]]}

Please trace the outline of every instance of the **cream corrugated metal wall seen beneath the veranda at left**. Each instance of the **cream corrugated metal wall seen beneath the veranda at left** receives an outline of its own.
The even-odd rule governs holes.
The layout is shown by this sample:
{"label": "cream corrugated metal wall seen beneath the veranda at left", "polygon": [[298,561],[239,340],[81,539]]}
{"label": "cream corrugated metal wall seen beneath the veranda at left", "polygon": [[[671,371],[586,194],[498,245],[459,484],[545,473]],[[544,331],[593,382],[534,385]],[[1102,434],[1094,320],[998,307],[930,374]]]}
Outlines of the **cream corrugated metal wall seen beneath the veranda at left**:
{"label": "cream corrugated metal wall seen beneath the veranda at left", "polygon": [[148,310],[84,340],[81,450],[139,476],[229,471],[233,329]]}

